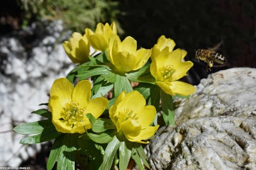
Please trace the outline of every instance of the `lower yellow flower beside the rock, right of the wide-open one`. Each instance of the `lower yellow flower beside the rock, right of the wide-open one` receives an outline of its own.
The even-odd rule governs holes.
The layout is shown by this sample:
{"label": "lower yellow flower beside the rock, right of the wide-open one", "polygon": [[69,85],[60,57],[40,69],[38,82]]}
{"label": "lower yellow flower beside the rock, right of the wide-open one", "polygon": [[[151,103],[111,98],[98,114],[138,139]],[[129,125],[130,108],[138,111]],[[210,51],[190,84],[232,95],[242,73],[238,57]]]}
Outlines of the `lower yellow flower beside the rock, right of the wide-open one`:
{"label": "lower yellow flower beside the rock, right of the wide-open one", "polygon": [[159,128],[149,126],[156,110],[154,106],[145,106],[146,101],[138,91],[126,94],[121,92],[114,105],[110,107],[110,119],[115,123],[117,132],[122,132],[127,140],[139,143],[149,143],[147,140]]}

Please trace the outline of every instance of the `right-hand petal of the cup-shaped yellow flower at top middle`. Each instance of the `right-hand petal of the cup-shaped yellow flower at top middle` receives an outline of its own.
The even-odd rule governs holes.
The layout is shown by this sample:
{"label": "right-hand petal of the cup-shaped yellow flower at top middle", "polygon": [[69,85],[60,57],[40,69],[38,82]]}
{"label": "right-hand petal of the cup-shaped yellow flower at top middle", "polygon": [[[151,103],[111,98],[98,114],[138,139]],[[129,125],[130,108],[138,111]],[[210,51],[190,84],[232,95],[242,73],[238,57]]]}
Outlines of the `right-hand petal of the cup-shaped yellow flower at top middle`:
{"label": "right-hand petal of the cup-shaped yellow flower at top middle", "polygon": [[137,70],[137,69],[142,68],[142,66],[144,66],[146,64],[146,62],[149,59],[150,55],[151,55],[151,50],[149,50],[149,49],[141,48],[141,49],[137,50],[137,52],[136,52],[136,60],[139,63],[137,63],[135,68],[133,68],[132,70]]}

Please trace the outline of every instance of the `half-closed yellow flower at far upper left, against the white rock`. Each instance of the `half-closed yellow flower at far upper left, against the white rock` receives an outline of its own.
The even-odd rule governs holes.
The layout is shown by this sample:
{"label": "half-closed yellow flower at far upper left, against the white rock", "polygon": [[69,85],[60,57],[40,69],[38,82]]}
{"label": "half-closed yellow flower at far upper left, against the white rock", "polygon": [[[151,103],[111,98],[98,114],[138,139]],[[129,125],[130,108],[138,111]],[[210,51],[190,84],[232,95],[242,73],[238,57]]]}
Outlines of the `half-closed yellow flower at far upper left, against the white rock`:
{"label": "half-closed yellow flower at far upper left, against the white rock", "polygon": [[90,45],[86,35],[73,33],[70,41],[65,41],[62,45],[73,63],[85,63],[89,60]]}

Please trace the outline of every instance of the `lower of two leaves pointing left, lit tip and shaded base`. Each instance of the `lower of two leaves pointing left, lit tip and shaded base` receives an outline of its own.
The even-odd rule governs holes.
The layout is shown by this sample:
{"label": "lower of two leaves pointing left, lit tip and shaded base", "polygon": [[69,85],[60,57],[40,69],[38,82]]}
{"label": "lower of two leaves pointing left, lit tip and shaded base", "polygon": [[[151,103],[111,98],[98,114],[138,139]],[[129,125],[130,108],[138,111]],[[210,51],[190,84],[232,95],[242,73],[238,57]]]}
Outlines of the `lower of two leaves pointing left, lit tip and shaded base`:
{"label": "lower of two leaves pointing left, lit tip and shaded base", "polygon": [[63,133],[60,133],[56,131],[55,127],[53,128],[44,128],[42,133],[39,133],[37,135],[24,137],[19,143],[21,144],[34,144],[34,143],[41,143],[46,141],[51,141],[55,139],[56,137],[62,135]]}

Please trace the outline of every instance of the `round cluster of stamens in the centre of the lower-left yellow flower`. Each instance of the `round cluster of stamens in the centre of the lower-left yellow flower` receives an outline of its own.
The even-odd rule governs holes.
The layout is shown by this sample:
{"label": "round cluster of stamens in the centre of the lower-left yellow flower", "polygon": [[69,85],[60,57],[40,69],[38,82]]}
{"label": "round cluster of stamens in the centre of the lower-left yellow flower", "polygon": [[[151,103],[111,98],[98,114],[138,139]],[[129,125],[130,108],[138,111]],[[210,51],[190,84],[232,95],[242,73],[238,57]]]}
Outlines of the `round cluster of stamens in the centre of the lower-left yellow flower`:
{"label": "round cluster of stamens in the centre of the lower-left yellow flower", "polygon": [[61,112],[61,117],[63,120],[67,120],[67,123],[72,126],[72,128],[80,123],[85,116],[85,108],[79,106],[76,102],[66,103],[65,107]]}

